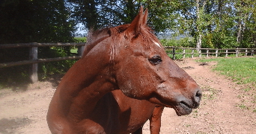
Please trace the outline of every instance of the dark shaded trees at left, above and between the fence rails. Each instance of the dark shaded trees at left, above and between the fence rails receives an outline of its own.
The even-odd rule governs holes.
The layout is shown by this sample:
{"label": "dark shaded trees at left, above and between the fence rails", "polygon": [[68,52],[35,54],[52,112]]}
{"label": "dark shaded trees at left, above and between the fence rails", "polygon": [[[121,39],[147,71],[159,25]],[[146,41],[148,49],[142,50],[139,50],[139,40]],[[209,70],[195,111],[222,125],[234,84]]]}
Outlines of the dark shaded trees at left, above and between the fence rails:
{"label": "dark shaded trees at left, above and between the fence rails", "polygon": [[[76,23],[70,18],[70,11],[67,10],[64,1],[1,0],[0,31],[0,44],[73,42]],[[69,48],[63,50],[69,52]],[[40,57],[49,57],[52,50],[49,47],[42,47],[39,53]],[[28,54],[28,48],[0,49],[0,63],[28,60]],[[29,81],[28,68],[0,68],[0,82],[5,85]]]}

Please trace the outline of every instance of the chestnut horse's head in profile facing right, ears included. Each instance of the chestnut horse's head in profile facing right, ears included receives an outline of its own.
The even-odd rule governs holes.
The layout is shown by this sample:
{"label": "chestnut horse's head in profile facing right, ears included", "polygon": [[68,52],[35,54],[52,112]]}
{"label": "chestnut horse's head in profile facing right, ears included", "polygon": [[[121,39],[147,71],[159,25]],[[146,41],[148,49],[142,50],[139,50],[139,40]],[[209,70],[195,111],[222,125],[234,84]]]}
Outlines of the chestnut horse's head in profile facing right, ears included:
{"label": "chestnut horse's head in profile facing right, ears included", "polygon": [[199,86],[168,57],[147,27],[147,10],[143,13],[141,7],[130,25],[112,31],[119,34],[112,35],[110,60],[116,84],[124,95],[172,107],[177,115],[187,115],[199,106]]}

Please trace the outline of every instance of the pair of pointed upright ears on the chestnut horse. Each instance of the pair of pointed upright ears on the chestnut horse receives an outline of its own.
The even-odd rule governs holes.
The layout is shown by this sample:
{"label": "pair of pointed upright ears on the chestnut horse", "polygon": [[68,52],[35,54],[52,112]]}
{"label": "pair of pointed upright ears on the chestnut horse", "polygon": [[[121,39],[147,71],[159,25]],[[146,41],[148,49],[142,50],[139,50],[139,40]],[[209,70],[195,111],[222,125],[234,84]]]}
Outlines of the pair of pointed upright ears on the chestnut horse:
{"label": "pair of pointed upright ears on the chestnut horse", "polygon": [[138,15],[133,19],[132,23],[127,28],[129,33],[133,33],[133,36],[137,36],[141,33],[141,28],[146,28],[147,26],[147,9],[143,13],[143,7],[141,6]]}

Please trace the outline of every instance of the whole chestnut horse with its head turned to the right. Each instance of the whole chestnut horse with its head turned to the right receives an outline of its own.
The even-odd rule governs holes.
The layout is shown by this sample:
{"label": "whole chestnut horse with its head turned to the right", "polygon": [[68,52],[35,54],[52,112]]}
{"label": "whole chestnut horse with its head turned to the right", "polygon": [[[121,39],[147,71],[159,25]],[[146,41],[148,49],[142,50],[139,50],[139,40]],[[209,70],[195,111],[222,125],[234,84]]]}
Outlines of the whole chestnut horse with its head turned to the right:
{"label": "whole chestnut horse with its head turned to the right", "polygon": [[49,105],[52,133],[159,133],[163,106],[187,115],[201,90],[165,53],[143,9],[130,25],[91,33],[82,59],[61,80]]}

